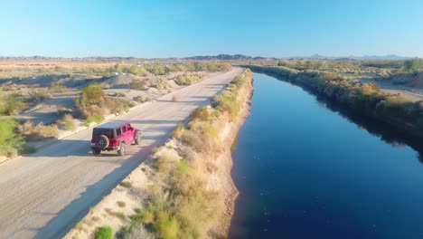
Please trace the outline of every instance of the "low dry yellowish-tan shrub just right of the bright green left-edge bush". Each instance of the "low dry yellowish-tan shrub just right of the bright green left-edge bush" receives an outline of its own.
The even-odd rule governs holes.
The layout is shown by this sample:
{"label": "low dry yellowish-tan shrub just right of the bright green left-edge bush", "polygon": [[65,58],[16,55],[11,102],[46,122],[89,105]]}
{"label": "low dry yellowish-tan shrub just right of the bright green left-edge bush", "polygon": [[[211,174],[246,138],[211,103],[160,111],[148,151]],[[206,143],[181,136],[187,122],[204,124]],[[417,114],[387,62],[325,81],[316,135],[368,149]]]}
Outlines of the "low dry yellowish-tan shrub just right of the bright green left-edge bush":
{"label": "low dry yellowish-tan shrub just right of the bright green left-edge bush", "polygon": [[56,138],[59,135],[57,125],[44,125],[43,123],[33,125],[31,121],[24,122],[17,129],[28,140]]}

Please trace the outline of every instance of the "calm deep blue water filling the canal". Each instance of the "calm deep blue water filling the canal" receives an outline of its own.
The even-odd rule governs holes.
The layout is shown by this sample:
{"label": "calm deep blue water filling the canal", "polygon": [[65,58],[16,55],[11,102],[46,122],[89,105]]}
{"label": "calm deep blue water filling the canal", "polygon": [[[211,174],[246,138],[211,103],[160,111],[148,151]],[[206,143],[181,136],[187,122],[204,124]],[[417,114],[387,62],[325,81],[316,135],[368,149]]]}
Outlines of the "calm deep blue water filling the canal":
{"label": "calm deep blue water filling the canal", "polygon": [[254,88],[230,238],[423,238],[418,141],[264,74]]}

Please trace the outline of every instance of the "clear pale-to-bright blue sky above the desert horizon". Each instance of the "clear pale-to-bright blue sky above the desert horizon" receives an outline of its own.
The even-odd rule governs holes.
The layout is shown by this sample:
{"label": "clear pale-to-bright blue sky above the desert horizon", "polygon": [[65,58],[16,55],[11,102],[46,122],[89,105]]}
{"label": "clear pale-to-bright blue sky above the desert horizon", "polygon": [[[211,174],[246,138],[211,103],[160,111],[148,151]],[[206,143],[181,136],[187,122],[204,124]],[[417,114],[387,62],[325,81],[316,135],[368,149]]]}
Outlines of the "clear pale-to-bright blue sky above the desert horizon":
{"label": "clear pale-to-bright blue sky above the desert horizon", "polygon": [[423,56],[421,0],[0,0],[0,55]]}

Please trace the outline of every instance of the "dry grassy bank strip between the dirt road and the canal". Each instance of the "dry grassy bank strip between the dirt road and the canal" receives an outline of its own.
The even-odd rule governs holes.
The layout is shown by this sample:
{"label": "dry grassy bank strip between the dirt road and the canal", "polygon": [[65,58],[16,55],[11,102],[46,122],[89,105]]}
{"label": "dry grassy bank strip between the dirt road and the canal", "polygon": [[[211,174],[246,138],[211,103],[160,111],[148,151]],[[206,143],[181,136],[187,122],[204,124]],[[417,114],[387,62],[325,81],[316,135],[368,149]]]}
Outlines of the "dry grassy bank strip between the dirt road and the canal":
{"label": "dry grassy bank strip between the dirt road and the canal", "polygon": [[[249,115],[252,91],[247,69],[215,95],[211,105],[194,110],[164,146],[152,148],[152,156],[65,238],[111,238],[96,236],[110,230],[116,238],[227,237],[238,196],[230,174],[231,145]],[[116,200],[136,209],[119,209],[118,216],[107,207]],[[99,215],[106,215],[101,222]]]}

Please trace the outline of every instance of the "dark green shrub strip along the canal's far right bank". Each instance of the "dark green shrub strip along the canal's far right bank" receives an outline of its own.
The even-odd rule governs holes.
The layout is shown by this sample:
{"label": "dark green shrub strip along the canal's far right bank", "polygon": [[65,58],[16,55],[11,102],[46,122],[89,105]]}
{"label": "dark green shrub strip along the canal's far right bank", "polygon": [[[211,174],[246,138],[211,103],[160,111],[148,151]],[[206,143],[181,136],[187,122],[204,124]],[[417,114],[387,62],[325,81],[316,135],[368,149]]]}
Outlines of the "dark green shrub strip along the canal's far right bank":
{"label": "dark green shrub strip along the canal's far right bank", "polygon": [[413,102],[374,83],[361,83],[333,72],[298,71],[285,66],[242,65],[303,87],[350,110],[390,124],[409,135],[423,138],[423,102]]}

